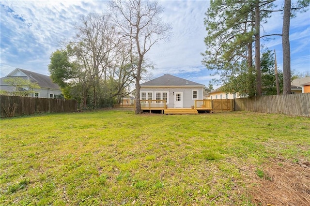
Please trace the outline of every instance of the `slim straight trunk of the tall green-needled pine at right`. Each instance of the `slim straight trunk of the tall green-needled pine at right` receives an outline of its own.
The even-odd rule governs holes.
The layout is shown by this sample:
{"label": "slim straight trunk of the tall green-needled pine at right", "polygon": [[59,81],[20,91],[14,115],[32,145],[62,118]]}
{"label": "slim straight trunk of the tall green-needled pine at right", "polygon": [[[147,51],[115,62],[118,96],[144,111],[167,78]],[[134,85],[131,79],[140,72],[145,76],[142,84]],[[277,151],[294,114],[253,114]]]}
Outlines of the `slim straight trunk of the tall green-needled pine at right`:
{"label": "slim straight trunk of the tall green-needled pine at right", "polygon": [[255,70],[256,70],[256,95],[262,96],[262,75],[261,75],[261,42],[260,42],[260,7],[256,1],[255,7]]}

